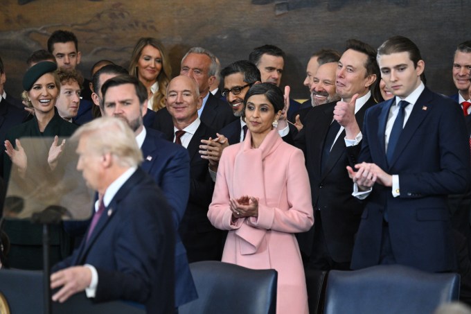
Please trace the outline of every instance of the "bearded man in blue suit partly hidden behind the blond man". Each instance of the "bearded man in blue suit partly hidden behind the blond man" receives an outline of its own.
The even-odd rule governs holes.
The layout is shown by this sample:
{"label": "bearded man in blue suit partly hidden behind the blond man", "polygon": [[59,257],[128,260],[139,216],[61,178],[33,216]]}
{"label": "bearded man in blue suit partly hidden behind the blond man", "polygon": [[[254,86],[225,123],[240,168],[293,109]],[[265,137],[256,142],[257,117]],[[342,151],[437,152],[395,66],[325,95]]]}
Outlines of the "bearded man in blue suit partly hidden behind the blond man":
{"label": "bearded man in blue suit partly hidden behind the blond man", "polygon": [[[190,157],[181,146],[163,139],[157,130],[145,128],[143,114],[148,111],[147,90],[133,76],[127,74],[109,78],[102,87],[105,116],[123,119],[134,131],[136,141],[144,156],[141,168],[159,185],[172,207],[175,230],[183,218],[190,193]],[[191,277],[186,250],[181,238],[175,243],[175,306],[197,298]]]}

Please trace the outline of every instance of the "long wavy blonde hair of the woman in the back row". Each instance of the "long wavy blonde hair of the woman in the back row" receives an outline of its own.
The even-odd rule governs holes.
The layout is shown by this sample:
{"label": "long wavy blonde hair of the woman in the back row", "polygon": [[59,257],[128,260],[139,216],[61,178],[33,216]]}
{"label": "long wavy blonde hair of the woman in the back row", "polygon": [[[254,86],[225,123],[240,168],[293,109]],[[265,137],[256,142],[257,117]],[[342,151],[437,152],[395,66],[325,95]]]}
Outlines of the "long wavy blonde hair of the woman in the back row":
{"label": "long wavy blonde hair of the woman in the back row", "polygon": [[139,61],[139,58],[141,58],[141,53],[145,46],[152,46],[155,49],[158,49],[162,58],[162,69],[159,73],[159,76],[157,76],[158,89],[152,96],[152,110],[157,111],[166,106],[166,89],[172,75],[172,67],[170,67],[170,60],[168,59],[167,52],[159,40],[156,40],[153,37],[141,37],[137,41],[136,46],[134,46],[134,50],[132,51],[131,64],[129,69],[130,75],[139,78],[138,71],[136,71],[137,62]]}

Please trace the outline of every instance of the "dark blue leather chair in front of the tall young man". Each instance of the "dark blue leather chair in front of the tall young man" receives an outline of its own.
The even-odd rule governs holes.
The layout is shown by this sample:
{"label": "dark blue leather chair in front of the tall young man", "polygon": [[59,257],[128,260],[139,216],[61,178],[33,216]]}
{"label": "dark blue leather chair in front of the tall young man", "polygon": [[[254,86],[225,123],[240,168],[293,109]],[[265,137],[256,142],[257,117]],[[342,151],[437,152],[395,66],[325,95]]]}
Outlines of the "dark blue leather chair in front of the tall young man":
{"label": "dark blue leather chair in front of the tall young man", "polygon": [[433,313],[440,304],[458,300],[459,283],[459,274],[433,274],[403,265],[331,270],[325,313]]}

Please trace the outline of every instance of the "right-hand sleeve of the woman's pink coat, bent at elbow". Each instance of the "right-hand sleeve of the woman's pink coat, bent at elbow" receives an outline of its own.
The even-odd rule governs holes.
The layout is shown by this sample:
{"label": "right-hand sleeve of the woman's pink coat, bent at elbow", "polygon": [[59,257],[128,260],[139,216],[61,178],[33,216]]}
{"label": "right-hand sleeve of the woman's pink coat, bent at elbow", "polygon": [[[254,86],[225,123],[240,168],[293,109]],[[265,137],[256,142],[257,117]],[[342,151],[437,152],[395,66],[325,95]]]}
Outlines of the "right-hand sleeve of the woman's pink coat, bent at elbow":
{"label": "right-hand sleeve of the woman's pink coat, bent at elbow", "polygon": [[278,232],[306,232],[314,224],[308,171],[301,150],[294,150],[285,168],[287,173],[287,201],[289,209],[258,205],[258,217],[249,224]]}

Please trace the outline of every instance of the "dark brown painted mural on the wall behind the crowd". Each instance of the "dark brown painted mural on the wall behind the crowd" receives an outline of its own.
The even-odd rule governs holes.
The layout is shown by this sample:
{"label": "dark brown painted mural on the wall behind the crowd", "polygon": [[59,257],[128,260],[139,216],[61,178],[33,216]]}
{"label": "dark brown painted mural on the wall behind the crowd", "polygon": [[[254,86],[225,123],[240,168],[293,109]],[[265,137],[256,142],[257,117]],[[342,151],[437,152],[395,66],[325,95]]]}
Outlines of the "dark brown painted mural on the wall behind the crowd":
{"label": "dark brown painted mural on the wall behind the crowd", "polygon": [[422,51],[427,85],[453,94],[453,52],[471,39],[470,13],[471,1],[458,0],[0,0],[0,55],[6,90],[18,96],[26,58],[46,49],[57,29],[77,35],[79,69],[88,77],[100,59],[127,66],[142,36],[165,44],[174,74],[191,46],[209,49],[224,67],[256,46],[275,44],[287,53],[282,85],[308,98],[302,82],[312,52],[343,51],[349,38],[377,47],[405,35]]}

